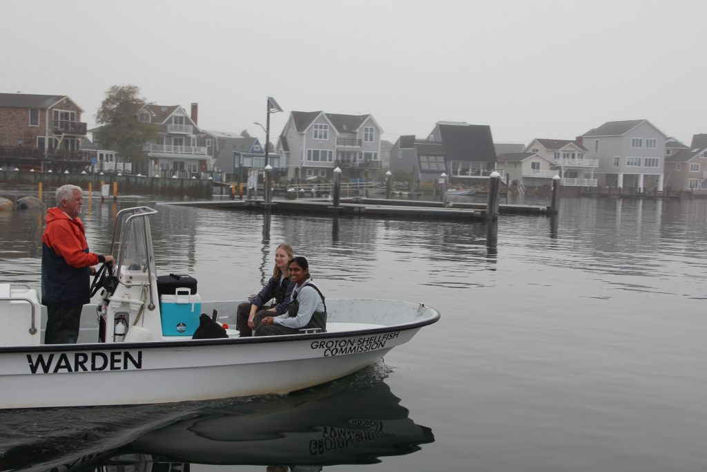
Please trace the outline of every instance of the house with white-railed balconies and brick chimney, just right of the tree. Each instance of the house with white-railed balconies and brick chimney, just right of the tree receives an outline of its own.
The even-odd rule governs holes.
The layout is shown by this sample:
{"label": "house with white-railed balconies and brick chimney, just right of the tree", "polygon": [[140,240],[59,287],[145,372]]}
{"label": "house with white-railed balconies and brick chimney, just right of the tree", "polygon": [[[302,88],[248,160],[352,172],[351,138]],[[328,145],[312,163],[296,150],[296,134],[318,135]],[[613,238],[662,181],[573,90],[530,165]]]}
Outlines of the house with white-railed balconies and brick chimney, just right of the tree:
{"label": "house with white-railed balconies and brick chimney, just right of the tree", "polygon": [[213,168],[214,155],[209,154],[213,139],[197,125],[197,104],[192,115],[181,105],[148,103],[138,112],[138,120],[158,125],[158,137],[143,146],[148,156],[150,175],[179,178],[203,177]]}

